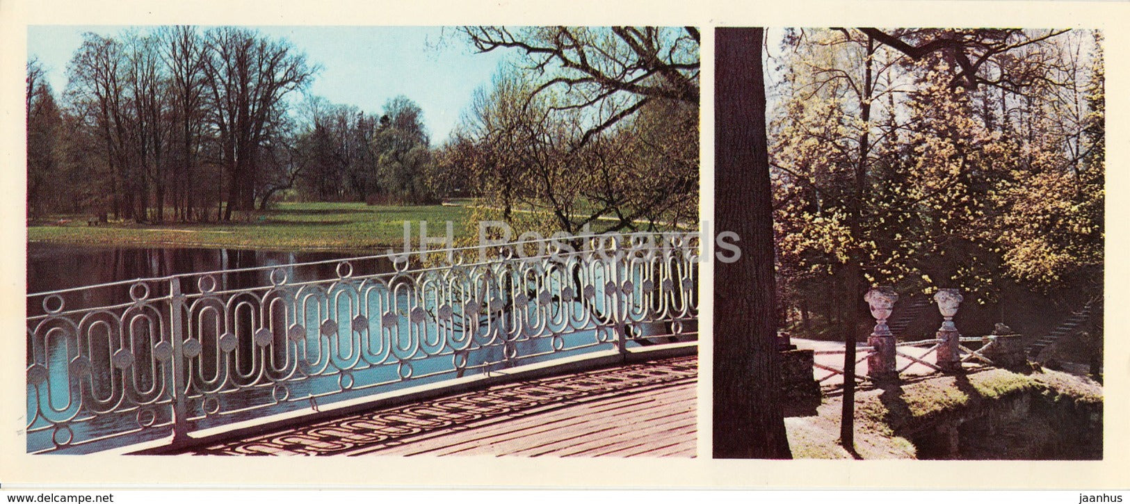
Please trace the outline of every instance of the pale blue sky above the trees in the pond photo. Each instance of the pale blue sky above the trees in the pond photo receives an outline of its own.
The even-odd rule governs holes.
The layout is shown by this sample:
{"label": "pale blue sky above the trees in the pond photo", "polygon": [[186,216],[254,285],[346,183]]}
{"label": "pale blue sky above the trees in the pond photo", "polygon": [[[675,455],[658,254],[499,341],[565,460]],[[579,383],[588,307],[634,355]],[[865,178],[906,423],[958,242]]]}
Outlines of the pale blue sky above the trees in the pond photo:
{"label": "pale blue sky above the trees in the pond photo", "polygon": [[[27,52],[44,63],[55,94],[84,32],[116,35],[124,26],[28,26]],[[252,26],[287,38],[320,63],[307,93],[365,112],[405,95],[420,105],[433,144],[443,142],[478,87],[486,87],[505,53],[477,54],[454,28],[368,26]]]}

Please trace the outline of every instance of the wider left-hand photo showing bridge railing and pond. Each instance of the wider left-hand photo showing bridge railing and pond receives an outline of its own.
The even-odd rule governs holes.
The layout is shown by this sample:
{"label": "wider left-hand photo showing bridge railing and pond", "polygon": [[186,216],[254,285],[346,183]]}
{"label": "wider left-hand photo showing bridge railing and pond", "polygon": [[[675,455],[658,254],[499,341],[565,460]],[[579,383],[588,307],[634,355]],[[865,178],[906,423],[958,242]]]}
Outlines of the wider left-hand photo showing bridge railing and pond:
{"label": "wider left-hand photo showing bridge railing and pond", "polygon": [[31,26],[28,453],[697,454],[694,27]]}

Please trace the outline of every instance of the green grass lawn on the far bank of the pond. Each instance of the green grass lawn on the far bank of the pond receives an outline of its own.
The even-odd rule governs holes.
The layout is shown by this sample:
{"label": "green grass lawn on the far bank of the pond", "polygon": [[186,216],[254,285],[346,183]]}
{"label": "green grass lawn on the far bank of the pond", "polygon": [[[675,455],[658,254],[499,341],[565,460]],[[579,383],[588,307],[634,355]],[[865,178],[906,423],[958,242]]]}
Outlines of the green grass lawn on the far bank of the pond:
{"label": "green grass lawn on the far bank of the pond", "polygon": [[[400,246],[403,223],[411,221],[414,242],[419,223],[428,236],[443,236],[446,221],[455,237],[467,232],[462,207],[368,206],[365,203],[278,203],[231,223],[174,223],[163,225],[110,223],[87,226],[88,215],[53,216],[29,223],[29,242],[124,246],[199,246],[261,250],[373,250]],[[476,233],[476,229],[470,229]],[[414,245],[415,246],[415,245]]]}

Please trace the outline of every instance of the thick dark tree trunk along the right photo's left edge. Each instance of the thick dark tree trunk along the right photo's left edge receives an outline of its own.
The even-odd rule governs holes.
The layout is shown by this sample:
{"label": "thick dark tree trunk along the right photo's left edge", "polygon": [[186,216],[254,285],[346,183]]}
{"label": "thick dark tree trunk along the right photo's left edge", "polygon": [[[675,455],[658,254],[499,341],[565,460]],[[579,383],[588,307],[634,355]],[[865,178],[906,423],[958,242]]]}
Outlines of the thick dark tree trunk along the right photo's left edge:
{"label": "thick dark tree trunk along the right photo's left edge", "polygon": [[[773,214],[762,28],[715,31],[715,210],[738,235],[715,261],[714,457],[788,459],[777,373]],[[732,241],[731,241],[732,242]]]}

